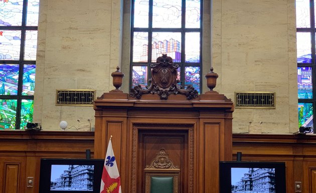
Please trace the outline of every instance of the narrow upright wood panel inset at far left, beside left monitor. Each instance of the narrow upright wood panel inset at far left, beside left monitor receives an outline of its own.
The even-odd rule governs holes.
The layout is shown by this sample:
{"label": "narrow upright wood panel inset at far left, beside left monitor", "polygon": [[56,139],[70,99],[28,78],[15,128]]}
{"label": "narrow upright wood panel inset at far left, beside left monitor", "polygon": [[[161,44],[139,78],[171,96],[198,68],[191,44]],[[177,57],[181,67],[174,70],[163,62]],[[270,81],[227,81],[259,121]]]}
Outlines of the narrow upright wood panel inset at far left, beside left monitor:
{"label": "narrow upright wood panel inset at far left, beside left monitor", "polygon": [[18,193],[21,177],[21,163],[5,162],[5,193]]}

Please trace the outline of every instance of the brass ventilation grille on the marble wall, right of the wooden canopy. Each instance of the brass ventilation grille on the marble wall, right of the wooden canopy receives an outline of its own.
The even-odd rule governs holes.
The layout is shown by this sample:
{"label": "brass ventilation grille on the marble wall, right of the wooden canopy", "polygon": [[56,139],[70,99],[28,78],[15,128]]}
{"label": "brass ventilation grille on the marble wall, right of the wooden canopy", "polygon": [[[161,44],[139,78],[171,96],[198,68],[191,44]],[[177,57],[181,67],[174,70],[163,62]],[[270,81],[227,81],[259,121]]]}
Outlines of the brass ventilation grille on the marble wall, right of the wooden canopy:
{"label": "brass ventilation grille on the marble wall, right of the wooden canopy", "polygon": [[235,107],[275,109],[274,99],[274,92],[235,92]]}

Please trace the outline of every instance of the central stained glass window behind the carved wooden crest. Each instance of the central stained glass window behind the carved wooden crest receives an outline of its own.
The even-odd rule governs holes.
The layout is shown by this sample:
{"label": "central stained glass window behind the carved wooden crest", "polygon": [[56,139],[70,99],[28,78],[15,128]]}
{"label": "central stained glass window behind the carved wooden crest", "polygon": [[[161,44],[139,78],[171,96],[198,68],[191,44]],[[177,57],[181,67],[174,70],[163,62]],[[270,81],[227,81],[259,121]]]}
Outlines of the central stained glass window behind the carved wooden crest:
{"label": "central stained glass window behind the carved wooden crest", "polygon": [[201,90],[200,0],[133,0],[130,86],[148,84],[150,64],[167,54],[179,64],[182,87]]}

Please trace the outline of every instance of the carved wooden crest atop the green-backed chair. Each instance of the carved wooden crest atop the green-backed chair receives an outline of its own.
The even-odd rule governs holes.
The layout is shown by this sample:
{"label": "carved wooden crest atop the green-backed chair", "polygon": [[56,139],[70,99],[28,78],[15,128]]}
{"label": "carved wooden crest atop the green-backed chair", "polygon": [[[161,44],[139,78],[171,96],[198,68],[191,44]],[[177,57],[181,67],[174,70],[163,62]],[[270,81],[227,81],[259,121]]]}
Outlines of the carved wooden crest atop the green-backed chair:
{"label": "carved wooden crest atop the green-backed chair", "polygon": [[173,161],[169,158],[165,148],[161,148],[156,157],[151,161],[150,165],[146,165],[146,168],[155,169],[178,169],[178,165],[174,165]]}

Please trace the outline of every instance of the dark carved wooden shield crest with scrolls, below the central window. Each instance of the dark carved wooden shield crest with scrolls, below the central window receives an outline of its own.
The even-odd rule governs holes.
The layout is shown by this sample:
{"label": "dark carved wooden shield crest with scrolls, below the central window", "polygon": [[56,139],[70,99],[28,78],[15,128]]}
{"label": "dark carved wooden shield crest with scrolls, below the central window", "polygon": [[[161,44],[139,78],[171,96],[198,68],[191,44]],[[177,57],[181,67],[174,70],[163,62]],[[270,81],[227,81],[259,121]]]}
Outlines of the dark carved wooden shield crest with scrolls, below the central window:
{"label": "dark carved wooden shield crest with scrolls, below the central window", "polygon": [[157,93],[160,95],[161,100],[167,100],[170,94],[185,94],[188,100],[198,98],[198,91],[189,85],[186,89],[182,89],[178,85],[179,80],[177,80],[179,68],[178,64],[174,64],[172,58],[163,54],[157,58],[156,63],[150,64],[151,79],[149,79],[149,87],[142,88],[137,85],[130,89],[129,96],[140,99],[142,94],[147,93]]}

